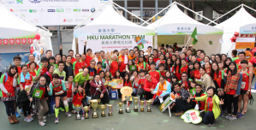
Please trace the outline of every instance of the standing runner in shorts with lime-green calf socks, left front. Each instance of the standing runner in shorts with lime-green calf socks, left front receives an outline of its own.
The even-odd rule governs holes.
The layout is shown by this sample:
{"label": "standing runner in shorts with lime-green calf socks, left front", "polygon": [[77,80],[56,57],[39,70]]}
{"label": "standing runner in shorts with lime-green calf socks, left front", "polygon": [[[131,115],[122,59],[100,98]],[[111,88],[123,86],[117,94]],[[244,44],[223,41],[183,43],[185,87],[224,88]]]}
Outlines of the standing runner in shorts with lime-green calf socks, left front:
{"label": "standing runner in shorts with lime-green calf socks, left front", "polygon": [[60,106],[60,100],[63,98],[63,103],[66,110],[66,115],[68,117],[71,117],[71,114],[68,112],[68,100],[67,100],[67,88],[65,86],[65,81],[59,80],[58,74],[52,74],[52,81],[50,84],[50,87],[47,87],[48,94],[55,98],[55,123],[57,124],[59,122],[58,114],[59,114],[59,106]]}

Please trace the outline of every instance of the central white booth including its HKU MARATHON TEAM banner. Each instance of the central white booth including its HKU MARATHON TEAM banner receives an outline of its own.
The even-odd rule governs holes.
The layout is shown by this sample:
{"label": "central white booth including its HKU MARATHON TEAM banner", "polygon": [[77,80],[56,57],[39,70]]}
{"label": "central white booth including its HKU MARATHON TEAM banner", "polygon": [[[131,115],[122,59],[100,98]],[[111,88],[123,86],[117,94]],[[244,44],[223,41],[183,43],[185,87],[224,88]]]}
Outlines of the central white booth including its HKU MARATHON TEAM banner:
{"label": "central white booth including its HKU MARATHON TEAM banner", "polygon": [[[120,7],[109,1],[104,4],[105,9],[97,18],[93,19],[93,14],[97,13],[97,10],[86,18],[86,20],[91,19],[89,24],[81,27],[84,22],[82,21],[80,25],[74,27],[72,50],[78,50],[82,54],[85,41],[87,41],[86,48],[92,49],[93,54],[95,51],[104,50],[105,54],[111,55],[113,50],[126,48],[130,50],[134,49],[134,46],[140,46],[142,50],[146,51],[147,46],[152,46],[154,30],[140,27],[128,21],[118,10],[114,9],[116,7],[113,4]],[[130,12],[128,13],[133,15]]]}

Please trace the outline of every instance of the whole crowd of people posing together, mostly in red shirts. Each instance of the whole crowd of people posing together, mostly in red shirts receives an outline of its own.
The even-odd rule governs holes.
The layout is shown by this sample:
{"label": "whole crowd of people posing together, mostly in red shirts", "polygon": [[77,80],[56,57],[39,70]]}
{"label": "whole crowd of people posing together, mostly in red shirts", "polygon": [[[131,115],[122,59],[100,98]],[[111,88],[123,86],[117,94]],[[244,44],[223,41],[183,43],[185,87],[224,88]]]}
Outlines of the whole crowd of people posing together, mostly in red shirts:
{"label": "whole crowd of people posing together, mostly in red shirts", "polygon": [[[92,58],[92,50],[86,49],[85,42],[82,55],[69,50],[65,56],[61,46],[56,56],[47,50],[40,64],[34,62],[33,54],[25,65],[21,65],[21,56],[15,56],[15,65],[1,76],[0,88],[11,124],[19,122],[17,107],[24,114],[24,121],[33,121],[33,115],[38,114],[39,125],[45,126],[46,116],[55,115],[55,123],[59,122],[59,110],[68,117],[70,111],[79,112],[75,109],[87,105],[86,97],[109,103],[110,91],[120,91],[104,83],[121,79],[123,86],[133,88],[133,96],[152,100],[154,105],[163,103],[171,92],[176,94],[170,105],[175,115],[197,108],[202,111],[203,122],[211,127],[226,110],[225,118],[230,121],[244,117],[252,98],[256,53],[250,62],[245,52],[237,54],[233,50],[232,56],[205,56],[204,50],[195,50],[192,45],[187,49],[163,44],[158,50],[149,46],[146,52],[136,46],[134,50],[114,50],[111,56],[101,50],[94,52]],[[35,90],[42,92],[41,97],[34,96]]]}

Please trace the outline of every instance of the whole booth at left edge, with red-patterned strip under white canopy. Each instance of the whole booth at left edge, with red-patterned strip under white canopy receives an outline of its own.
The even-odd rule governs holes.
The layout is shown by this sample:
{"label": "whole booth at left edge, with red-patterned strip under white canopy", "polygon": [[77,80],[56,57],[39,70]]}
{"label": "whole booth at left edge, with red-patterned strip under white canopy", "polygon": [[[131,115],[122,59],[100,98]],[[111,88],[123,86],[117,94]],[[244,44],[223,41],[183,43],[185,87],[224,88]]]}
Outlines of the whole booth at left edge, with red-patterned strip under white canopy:
{"label": "whole booth at left edge, with red-patterned strip under white canopy", "polygon": [[[6,3],[7,4],[7,3]],[[8,9],[8,6],[0,2],[0,65],[4,69],[8,68],[14,56],[21,56],[21,64],[27,62],[27,56],[30,54],[30,45],[36,34],[44,37],[44,43],[47,50],[52,50],[51,47],[51,32],[35,27],[24,16],[14,15],[10,11],[17,11],[15,9]],[[23,20],[21,20],[21,17]]]}

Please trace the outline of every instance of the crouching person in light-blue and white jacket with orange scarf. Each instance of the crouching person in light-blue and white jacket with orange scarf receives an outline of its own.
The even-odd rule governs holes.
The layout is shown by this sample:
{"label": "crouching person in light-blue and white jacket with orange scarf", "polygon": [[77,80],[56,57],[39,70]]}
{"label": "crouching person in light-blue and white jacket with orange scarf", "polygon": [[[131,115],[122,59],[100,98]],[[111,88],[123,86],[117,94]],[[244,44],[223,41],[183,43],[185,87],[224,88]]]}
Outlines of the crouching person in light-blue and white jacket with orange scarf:
{"label": "crouching person in light-blue and white jacket with orange scarf", "polygon": [[152,102],[155,103],[163,103],[165,98],[170,95],[171,88],[170,82],[164,80],[164,76],[160,76],[160,82],[156,86],[155,90],[152,90],[152,94],[155,94],[152,98]]}

